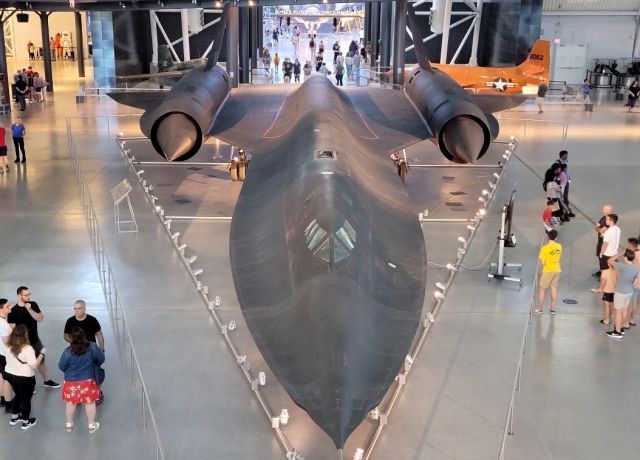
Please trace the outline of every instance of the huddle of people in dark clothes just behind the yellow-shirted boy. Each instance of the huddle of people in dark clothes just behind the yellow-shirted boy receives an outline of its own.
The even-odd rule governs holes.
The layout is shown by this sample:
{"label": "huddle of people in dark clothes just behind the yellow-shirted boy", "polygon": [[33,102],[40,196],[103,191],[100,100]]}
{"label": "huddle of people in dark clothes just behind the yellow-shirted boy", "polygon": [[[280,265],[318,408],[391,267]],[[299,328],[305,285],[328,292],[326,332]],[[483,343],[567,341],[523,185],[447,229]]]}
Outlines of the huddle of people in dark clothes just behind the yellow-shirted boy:
{"label": "huddle of people in dark clothes just behind the yellow-shirted boy", "polygon": [[542,213],[542,220],[547,231],[575,217],[569,203],[570,184],[569,152],[561,150],[558,159],[545,172],[542,182],[547,197],[547,207]]}

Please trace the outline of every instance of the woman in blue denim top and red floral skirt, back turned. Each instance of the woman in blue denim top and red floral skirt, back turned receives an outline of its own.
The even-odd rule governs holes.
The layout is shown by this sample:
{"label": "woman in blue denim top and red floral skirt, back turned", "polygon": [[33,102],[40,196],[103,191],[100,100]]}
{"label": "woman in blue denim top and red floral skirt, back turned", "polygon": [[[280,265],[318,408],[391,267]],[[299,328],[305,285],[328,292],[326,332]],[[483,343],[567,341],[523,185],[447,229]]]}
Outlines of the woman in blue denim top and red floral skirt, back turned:
{"label": "woman in blue denim top and red floral skirt, back turned", "polygon": [[98,346],[87,340],[84,331],[74,328],[71,331],[71,345],[62,356],[58,367],[64,372],[62,400],[67,403],[67,431],[73,429],[73,413],[78,404],[84,405],[89,421],[89,433],[95,433],[100,424],[96,418],[96,400],[100,398],[100,387],[95,381],[96,366],[104,363],[104,353]]}

